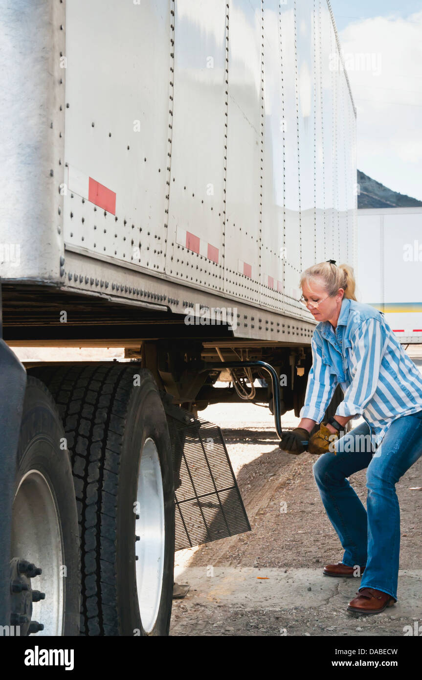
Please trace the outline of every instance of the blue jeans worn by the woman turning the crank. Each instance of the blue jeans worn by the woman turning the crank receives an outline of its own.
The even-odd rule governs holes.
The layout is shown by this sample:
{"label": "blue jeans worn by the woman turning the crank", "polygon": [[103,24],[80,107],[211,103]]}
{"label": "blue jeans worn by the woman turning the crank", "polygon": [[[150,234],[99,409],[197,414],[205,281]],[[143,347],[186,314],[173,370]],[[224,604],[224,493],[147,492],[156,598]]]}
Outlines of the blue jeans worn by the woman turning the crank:
{"label": "blue jeans worn by the woman turning the crank", "polygon": [[[335,449],[336,454],[319,456],[313,473],[326,513],[345,549],[342,562],[366,565],[359,590],[376,588],[397,600],[400,508],[395,484],[422,456],[422,411],[394,420],[379,450],[370,442],[366,422],[341,437]],[[366,467],[365,510],[347,477]]]}

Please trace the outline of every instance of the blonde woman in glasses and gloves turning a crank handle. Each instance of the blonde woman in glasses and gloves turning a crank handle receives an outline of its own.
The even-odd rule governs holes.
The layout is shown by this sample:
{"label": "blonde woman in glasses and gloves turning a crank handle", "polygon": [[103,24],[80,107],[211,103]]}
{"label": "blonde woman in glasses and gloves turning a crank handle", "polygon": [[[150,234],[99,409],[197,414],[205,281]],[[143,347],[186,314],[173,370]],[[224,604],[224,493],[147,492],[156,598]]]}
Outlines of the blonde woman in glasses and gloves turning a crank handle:
{"label": "blonde woman in glasses and gloves turning a crank handle", "polygon": [[[313,466],[326,513],[345,552],[323,573],[362,575],[349,611],[376,614],[397,601],[400,509],[395,484],[422,455],[422,376],[382,312],[355,298],[353,268],[320,262],[300,278],[302,302],[319,324],[312,337],[300,423],[281,448],[323,454]],[[322,422],[336,385],[344,392],[334,418]],[[364,423],[338,437],[352,418]],[[309,438],[315,423],[321,426]],[[342,432],[343,434],[343,432]],[[367,468],[364,508],[348,481]]]}

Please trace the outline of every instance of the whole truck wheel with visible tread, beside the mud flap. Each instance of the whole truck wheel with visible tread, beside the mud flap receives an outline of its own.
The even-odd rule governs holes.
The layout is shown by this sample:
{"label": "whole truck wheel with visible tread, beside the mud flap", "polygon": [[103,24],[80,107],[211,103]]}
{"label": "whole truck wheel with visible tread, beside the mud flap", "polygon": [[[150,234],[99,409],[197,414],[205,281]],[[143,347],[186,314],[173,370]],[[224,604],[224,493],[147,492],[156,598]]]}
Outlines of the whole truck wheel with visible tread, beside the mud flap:
{"label": "whole truck wheel with visible tread, beside the mud flap", "polygon": [[175,503],[169,429],[137,364],[30,369],[62,414],[82,549],[81,632],[169,634]]}

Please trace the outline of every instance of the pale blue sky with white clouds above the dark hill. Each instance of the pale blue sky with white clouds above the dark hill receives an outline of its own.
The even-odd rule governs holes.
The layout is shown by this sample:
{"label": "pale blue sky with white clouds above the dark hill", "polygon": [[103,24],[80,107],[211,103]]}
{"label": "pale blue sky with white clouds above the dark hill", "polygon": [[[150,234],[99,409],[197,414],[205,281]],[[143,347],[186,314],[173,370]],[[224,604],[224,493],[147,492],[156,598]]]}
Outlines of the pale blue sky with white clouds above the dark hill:
{"label": "pale blue sky with white clouds above the dark hill", "polygon": [[357,108],[357,167],[422,201],[422,0],[331,0]]}

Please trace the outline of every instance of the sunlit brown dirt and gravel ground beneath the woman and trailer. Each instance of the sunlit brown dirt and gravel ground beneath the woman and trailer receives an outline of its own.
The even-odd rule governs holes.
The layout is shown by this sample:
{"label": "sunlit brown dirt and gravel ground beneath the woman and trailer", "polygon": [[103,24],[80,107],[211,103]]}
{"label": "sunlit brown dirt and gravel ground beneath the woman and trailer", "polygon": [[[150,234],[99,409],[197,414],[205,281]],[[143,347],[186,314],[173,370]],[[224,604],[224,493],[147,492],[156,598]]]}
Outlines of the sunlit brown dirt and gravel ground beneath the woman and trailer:
{"label": "sunlit brown dirt and gravel ground beneath the woman and trailer", "polygon": [[[422,348],[406,350],[422,369]],[[398,602],[367,617],[347,613],[359,579],[322,575],[342,547],[313,478],[316,457],[277,445],[268,409],[213,405],[200,416],[222,427],[251,532],[178,551],[175,580],[190,583],[173,600],[171,635],[403,636],[422,633],[422,458],[397,485],[401,513]],[[362,422],[354,421],[354,426]],[[293,411],[282,418],[293,428]],[[366,505],[366,471],[350,478]]]}

